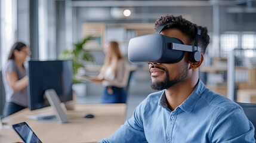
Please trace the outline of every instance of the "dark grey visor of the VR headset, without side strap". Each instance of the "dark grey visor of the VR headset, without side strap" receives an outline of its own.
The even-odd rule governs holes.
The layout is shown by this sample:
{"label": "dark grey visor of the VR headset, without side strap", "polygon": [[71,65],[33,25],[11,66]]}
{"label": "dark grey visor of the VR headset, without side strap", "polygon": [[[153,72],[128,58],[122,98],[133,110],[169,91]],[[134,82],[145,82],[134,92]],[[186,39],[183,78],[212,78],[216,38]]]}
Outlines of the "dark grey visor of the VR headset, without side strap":
{"label": "dark grey visor of the VR headset, without side strap", "polygon": [[128,59],[131,62],[177,63],[185,51],[172,49],[171,43],[183,44],[180,39],[159,33],[132,38],[128,45]]}

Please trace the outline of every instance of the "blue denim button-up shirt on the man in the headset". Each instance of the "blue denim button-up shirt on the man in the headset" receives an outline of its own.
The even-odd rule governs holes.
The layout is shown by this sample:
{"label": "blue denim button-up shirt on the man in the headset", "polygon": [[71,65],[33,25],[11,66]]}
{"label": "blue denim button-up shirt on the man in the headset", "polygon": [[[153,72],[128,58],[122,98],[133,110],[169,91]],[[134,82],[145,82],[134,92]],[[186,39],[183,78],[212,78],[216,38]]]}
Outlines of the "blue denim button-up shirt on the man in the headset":
{"label": "blue denim button-up shirt on the man in the headset", "polygon": [[254,126],[235,102],[199,80],[174,111],[164,91],[150,94],[109,138],[100,142],[255,142]]}

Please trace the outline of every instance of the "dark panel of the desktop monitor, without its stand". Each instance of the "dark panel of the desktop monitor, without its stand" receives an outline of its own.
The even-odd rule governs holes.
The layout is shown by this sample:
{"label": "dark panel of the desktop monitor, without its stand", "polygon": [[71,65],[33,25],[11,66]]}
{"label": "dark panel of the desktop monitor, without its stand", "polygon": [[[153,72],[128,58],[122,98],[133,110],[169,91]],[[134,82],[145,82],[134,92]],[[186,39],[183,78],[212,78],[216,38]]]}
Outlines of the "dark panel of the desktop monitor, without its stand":
{"label": "dark panel of the desktop monitor, without its stand", "polygon": [[50,104],[45,90],[54,89],[61,102],[72,100],[72,61],[29,61],[27,70],[28,106],[30,110]]}

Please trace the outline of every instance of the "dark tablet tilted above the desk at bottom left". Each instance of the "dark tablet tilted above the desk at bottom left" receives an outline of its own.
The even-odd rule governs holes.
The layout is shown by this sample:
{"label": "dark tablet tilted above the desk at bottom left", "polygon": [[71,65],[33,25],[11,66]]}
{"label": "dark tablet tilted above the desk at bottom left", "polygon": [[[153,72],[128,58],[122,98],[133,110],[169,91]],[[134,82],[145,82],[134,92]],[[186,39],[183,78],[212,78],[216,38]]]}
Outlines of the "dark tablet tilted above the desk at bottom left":
{"label": "dark tablet tilted above the desk at bottom left", "polygon": [[26,143],[42,143],[42,141],[36,136],[33,130],[27,125],[26,122],[17,123],[13,125],[13,129],[18,133],[20,138]]}

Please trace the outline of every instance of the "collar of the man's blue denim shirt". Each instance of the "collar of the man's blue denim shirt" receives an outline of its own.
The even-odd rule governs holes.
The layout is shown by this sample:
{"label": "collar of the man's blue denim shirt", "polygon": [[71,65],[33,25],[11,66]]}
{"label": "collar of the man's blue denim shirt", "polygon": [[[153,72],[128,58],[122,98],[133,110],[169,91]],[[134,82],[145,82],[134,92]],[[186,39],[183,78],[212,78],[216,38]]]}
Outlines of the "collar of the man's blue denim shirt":
{"label": "collar of the man's blue denim shirt", "polygon": [[[205,85],[199,79],[198,84],[196,85],[196,88],[194,89],[192,94],[190,94],[189,97],[179,106],[181,110],[186,111],[186,113],[190,113],[193,110],[196,102],[199,100],[199,98],[201,98],[202,92],[204,90]],[[161,98],[159,99],[159,105],[169,110],[164,91],[162,92]]]}

